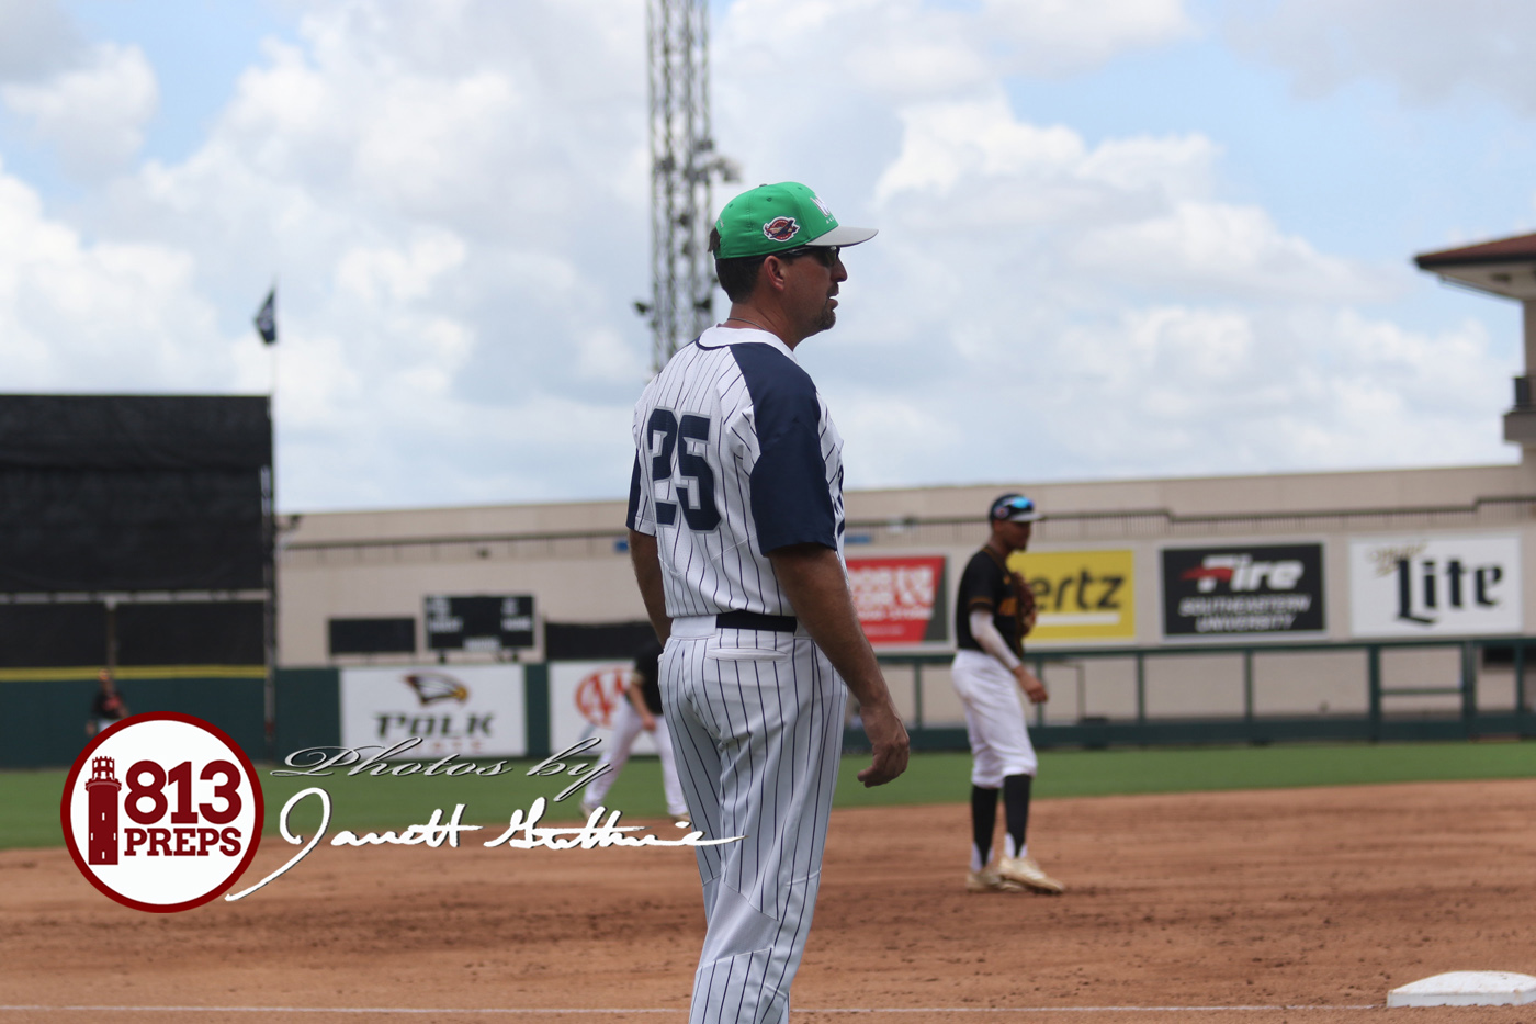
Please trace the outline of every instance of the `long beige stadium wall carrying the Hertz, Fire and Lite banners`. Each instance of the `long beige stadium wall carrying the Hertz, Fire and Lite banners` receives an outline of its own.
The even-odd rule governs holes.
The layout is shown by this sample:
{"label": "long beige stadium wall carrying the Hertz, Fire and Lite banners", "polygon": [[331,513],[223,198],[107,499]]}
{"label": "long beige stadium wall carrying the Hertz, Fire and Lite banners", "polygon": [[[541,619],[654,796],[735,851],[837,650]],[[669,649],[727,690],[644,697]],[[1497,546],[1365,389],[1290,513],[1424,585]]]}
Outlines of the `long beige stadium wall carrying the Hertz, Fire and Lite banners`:
{"label": "long beige stadium wall carrying the Hertz, Fire and Lite banners", "polygon": [[[1373,735],[1373,716],[1376,735],[1465,735],[1468,713],[1524,730],[1536,472],[1508,464],[849,492],[860,613],[934,743],[962,724],[945,664],[954,589],[1003,490],[1046,514],[1021,561],[1041,603],[1031,653],[1054,695],[1041,738],[1241,738],[1252,720],[1292,723],[1281,736]],[[283,664],[547,664],[554,718],[601,733],[611,700],[564,680],[627,660],[573,633],[644,623],[622,521],[621,501],[296,517],[280,541]],[[430,595],[528,595],[531,646],[433,650]],[[392,620],[410,647],[335,653],[333,620]]]}

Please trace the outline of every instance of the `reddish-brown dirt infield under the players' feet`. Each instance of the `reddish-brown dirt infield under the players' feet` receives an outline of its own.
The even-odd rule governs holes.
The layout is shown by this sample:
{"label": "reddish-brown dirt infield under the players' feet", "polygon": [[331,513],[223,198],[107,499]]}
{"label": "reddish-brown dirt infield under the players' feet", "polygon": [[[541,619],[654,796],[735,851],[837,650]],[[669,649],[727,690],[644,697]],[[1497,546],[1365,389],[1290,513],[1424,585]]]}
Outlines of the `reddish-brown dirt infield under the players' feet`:
{"label": "reddish-brown dirt infield under the players' feet", "polygon": [[[1038,801],[1061,898],[968,895],[966,813],[834,813],[796,1024],[1536,1024],[1381,1009],[1445,970],[1536,973],[1536,781]],[[266,839],[247,884],[292,853]],[[118,907],[61,849],[11,850],[0,1019],[662,1024],[687,1018],[700,935],[677,849],[323,846],[178,915]]]}

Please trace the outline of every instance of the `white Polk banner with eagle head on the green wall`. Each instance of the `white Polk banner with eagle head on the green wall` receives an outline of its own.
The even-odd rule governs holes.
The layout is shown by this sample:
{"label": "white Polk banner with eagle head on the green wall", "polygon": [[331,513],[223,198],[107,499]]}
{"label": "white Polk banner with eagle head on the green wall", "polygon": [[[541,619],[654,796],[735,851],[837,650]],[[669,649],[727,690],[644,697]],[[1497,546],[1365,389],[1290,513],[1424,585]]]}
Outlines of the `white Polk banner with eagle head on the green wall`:
{"label": "white Polk banner with eagle head on the green wall", "polygon": [[464,664],[341,670],[341,746],[392,747],[412,761],[528,752],[522,666]]}

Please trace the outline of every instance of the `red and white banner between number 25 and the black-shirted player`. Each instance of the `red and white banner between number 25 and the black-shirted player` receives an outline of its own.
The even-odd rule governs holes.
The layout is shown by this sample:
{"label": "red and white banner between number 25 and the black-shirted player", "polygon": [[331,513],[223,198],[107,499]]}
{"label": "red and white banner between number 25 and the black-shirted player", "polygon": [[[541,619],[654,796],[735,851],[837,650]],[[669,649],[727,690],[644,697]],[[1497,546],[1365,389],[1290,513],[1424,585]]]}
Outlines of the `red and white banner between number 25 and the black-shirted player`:
{"label": "red and white banner between number 25 and the black-shirted player", "polygon": [[849,558],[848,583],[872,646],[948,643],[943,555]]}

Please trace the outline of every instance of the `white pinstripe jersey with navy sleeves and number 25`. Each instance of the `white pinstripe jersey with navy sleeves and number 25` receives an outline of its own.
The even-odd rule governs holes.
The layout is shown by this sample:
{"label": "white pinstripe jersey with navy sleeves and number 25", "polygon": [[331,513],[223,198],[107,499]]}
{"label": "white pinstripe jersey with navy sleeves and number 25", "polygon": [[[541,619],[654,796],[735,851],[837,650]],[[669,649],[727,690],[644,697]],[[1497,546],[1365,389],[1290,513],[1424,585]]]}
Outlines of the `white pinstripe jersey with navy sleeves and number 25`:
{"label": "white pinstripe jersey with navy sleeves and number 25", "polygon": [[667,613],[790,615],[768,552],[843,544],[842,437],[794,352],[710,327],[634,407],[628,527],[653,534]]}

